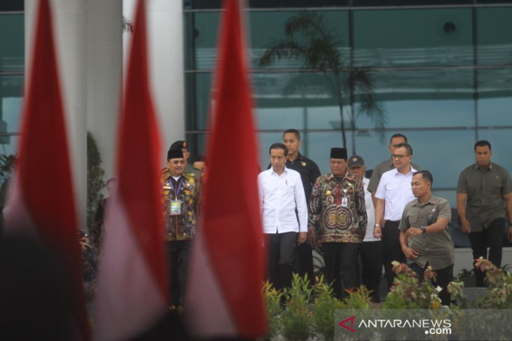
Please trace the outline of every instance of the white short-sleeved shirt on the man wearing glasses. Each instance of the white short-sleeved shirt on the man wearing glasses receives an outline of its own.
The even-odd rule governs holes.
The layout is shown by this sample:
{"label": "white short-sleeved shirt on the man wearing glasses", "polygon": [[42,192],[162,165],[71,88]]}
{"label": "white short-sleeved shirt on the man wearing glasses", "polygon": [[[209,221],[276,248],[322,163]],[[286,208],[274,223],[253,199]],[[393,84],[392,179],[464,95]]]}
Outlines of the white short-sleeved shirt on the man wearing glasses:
{"label": "white short-sleeved shirt on the man wearing glasses", "polygon": [[400,221],[405,205],[415,200],[411,189],[414,172],[417,170],[411,167],[407,174],[398,172],[396,168],[382,174],[375,197],[385,200],[384,220]]}

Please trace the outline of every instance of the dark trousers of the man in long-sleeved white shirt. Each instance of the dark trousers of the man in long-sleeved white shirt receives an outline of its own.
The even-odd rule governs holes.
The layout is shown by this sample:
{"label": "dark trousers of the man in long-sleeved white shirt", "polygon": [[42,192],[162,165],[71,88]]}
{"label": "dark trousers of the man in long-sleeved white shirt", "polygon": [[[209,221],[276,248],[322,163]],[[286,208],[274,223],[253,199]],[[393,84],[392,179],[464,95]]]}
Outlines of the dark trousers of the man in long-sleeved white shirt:
{"label": "dark trousers of the man in long-sleeved white shirt", "polygon": [[297,232],[267,233],[269,282],[274,288],[292,285],[293,260]]}

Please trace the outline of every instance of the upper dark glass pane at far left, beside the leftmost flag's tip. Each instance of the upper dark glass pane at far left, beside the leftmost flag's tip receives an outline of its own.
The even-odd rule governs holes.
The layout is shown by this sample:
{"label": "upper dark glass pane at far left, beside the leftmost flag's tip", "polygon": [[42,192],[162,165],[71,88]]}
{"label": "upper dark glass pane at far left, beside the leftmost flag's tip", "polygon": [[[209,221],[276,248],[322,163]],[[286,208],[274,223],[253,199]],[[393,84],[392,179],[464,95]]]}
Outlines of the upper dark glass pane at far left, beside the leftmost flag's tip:
{"label": "upper dark glass pane at far left, beside the leftmost flag's tip", "polygon": [[25,69],[25,19],[20,14],[0,14],[0,72]]}

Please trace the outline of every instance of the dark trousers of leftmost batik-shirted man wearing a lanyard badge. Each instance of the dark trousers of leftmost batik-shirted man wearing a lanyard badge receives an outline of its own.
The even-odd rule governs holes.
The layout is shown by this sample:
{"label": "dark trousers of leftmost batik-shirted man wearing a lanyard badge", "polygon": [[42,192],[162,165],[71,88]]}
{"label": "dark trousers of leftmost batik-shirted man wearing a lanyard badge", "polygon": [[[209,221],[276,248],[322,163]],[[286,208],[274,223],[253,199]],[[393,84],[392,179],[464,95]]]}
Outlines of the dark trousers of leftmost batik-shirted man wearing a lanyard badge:
{"label": "dark trousers of leftmost batik-shirted man wearing a lanyard badge", "polygon": [[189,256],[191,240],[178,240],[167,242],[167,256],[169,265],[169,304],[182,305],[184,291],[187,287],[187,270],[189,268]]}

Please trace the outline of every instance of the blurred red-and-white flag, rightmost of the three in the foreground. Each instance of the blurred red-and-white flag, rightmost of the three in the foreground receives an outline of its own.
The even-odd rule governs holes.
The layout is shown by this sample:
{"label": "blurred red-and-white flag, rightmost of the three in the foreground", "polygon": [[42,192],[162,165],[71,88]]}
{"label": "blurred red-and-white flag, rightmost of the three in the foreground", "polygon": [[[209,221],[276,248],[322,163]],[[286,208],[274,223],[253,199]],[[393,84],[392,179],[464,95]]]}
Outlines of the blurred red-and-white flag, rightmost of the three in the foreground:
{"label": "blurred red-and-white flag, rightmost of the three in the foreground", "polygon": [[224,8],[203,223],[185,312],[197,336],[252,338],[267,330],[257,148],[239,1]]}

